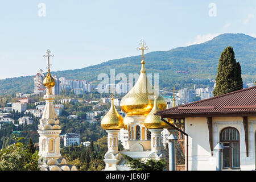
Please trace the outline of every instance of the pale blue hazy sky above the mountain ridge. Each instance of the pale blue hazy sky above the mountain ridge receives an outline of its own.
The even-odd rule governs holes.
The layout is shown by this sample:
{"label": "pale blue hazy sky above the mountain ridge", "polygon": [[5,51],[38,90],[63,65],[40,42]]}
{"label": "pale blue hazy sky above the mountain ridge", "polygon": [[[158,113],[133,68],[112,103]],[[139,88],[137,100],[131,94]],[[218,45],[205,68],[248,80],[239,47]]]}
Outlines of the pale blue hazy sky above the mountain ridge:
{"label": "pale blue hazy sky above the mountain ridge", "polygon": [[255,16],[255,0],[1,0],[0,79],[46,72],[47,49],[58,71],[139,55],[142,38],[151,52],[225,32],[256,37]]}

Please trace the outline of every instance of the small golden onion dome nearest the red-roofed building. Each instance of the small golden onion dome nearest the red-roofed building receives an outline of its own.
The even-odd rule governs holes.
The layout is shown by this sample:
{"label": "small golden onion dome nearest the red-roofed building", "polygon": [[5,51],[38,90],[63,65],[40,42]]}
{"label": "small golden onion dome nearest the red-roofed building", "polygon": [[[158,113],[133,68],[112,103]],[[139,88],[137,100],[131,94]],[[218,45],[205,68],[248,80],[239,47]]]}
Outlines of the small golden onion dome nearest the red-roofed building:
{"label": "small golden onion dome nearest the red-roofed building", "polygon": [[147,129],[163,129],[163,128],[171,128],[169,125],[167,125],[165,122],[163,122],[159,115],[155,115],[157,111],[159,111],[159,107],[157,104],[157,99],[155,96],[154,101],[154,107],[150,111],[150,113],[147,115],[147,117],[144,120],[144,125]]}

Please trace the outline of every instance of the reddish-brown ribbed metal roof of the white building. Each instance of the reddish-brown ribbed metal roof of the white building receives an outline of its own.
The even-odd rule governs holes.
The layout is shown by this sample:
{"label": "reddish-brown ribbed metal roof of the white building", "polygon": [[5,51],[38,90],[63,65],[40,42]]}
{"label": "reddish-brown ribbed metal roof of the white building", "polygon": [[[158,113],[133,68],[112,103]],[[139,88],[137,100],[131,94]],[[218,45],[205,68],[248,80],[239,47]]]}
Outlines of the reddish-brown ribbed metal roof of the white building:
{"label": "reddish-brown ribbed metal roof of the white building", "polygon": [[207,114],[256,115],[256,86],[172,107],[156,113],[156,115],[169,115],[171,117],[192,117]]}

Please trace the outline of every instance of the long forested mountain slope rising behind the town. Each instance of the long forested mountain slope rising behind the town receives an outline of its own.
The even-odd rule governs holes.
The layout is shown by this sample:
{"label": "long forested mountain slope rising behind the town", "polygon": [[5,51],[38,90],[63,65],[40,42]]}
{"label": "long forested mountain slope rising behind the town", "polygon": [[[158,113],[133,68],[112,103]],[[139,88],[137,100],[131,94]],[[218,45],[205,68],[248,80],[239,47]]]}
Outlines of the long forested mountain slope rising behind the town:
{"label": "long forested mountain slope rising behind the town", "polygon": [[[146,71],[159,73],[159,86],[162,89],[170,90],[172,86],[192,88],[193,84],[212,86],[213,83],[209,81],[196,82],[195,78],[215,78],[220,54],[228,46],[233,47],[236,60],[241,64],[243,83],[256,80],[256,38],[245,34],[222,34],[205,43],[146,53]],[[110,69],[113,68],[116,75],[125,73],[128,77],[129,73],[139,73],[141,56],[110,60],[81,69],[52,72],[52,75],[95,81],[100,73],[110,75]],[[33,82],[32,76],[0,80],[0,94],[18,91],[30,93]]]}

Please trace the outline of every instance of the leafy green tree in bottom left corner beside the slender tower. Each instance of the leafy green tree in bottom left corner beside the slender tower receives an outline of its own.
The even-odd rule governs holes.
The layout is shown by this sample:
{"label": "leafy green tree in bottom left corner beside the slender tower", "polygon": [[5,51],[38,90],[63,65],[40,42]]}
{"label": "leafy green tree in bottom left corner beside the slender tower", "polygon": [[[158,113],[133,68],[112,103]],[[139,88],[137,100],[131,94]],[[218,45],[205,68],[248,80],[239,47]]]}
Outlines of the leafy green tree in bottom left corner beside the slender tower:
{"label": "leafy green tree in bottom left corner beside the slender tower", "polygon": [[0,171],[38,171],[38,151],[31,150],[31,143],[26,146],[19,142],[22,138],[15,138],[16,143],[2,148],[0,151]]}

